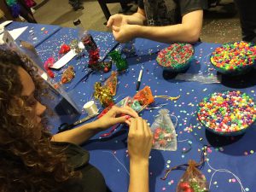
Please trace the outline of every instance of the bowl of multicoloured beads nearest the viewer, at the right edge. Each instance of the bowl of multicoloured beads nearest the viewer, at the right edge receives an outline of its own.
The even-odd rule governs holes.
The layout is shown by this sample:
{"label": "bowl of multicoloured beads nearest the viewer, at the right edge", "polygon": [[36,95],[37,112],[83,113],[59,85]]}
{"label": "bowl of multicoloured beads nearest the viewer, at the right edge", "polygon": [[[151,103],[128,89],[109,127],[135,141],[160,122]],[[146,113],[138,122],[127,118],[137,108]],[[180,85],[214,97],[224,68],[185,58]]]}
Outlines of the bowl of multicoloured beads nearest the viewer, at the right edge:
{"label": "bowl of multicoloured beads nearest the viewer, at the right edge", "polygon": [[207,130],[222,136],[244,133],[256,119],[253,98],[240,90],[214,92],[198,106],[197,117]]}

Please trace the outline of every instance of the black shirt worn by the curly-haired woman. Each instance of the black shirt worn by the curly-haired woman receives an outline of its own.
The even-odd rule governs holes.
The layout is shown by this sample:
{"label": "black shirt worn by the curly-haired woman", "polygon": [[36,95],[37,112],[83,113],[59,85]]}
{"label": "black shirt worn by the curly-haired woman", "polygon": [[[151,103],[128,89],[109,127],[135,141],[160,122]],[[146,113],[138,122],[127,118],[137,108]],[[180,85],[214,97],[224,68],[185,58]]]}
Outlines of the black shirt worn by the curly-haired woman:
{"label": "black shirt worn by the curly-haired woman", "polygon": [[68,164],[73,166],[75,171],[82,172],[82,178],[71,179],[63,184],[63,188],[72,192],[107,192],[107,186],[102,173],[96,167],[89,164],[90,154],[84,148],[73,143],[52,143],[56,147],[67,147],[64,152],[67,154]]}

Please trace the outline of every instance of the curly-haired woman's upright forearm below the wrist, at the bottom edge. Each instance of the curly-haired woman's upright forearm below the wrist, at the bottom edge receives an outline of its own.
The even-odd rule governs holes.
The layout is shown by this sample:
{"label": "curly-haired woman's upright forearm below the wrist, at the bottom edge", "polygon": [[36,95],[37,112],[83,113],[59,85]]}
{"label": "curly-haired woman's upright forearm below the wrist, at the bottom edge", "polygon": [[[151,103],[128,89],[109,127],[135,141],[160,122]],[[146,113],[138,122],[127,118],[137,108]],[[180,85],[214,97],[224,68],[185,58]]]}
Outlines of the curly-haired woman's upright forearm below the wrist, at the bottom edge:
{"label": "curly-haired woman's upright forearm below the wrist, at the bottom edge", "polygon": [[129,192],[148,192],[148,161],[130,162]]}

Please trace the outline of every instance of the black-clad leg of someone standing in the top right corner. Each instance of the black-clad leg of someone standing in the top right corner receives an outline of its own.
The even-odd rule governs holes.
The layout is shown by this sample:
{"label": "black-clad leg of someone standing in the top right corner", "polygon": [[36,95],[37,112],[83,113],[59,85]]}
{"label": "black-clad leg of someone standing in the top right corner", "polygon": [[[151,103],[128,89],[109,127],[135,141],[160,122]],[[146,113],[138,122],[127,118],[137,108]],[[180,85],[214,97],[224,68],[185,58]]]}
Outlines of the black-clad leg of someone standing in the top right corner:
{"label": "black-clad leg of someone standing in the top right corner", "polygon": [[234,1],[240,15],[242,39],[256,43],[256,1]]}

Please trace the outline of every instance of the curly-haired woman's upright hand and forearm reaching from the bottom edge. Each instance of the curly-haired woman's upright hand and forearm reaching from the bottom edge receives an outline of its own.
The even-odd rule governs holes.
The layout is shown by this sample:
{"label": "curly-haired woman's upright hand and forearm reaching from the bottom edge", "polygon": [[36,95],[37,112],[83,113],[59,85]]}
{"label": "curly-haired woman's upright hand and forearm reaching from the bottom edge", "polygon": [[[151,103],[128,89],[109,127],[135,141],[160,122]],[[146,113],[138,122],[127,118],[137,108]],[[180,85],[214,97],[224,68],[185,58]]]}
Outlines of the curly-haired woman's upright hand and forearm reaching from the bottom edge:
{"label": "curly-haired woman's upright hand and forearm reaching from the bottom edge", "polygon": [[128,134],[130,155],[129,192],[148,192],[148,156],[153,135],[147,122],[142,118],[131,119]]}

